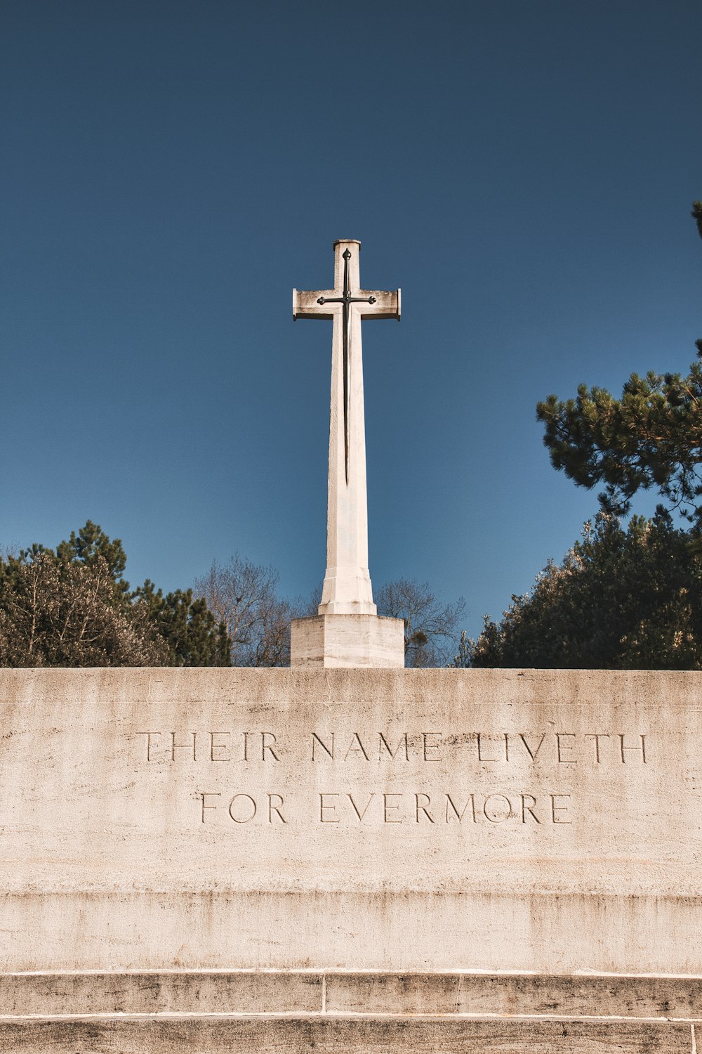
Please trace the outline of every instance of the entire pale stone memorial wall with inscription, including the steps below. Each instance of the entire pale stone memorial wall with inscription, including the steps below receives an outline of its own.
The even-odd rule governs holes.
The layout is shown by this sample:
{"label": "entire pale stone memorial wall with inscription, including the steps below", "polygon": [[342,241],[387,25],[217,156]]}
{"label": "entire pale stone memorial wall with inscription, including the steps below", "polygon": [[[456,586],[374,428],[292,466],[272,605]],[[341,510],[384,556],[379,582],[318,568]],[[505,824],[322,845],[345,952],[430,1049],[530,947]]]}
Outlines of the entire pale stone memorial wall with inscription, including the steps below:
{"label": "entire pale stone memorial wall with inscription, including the steps below", "polygon": [[699,675],[4,670],[0,700],[3,1050],[693,1049]]}

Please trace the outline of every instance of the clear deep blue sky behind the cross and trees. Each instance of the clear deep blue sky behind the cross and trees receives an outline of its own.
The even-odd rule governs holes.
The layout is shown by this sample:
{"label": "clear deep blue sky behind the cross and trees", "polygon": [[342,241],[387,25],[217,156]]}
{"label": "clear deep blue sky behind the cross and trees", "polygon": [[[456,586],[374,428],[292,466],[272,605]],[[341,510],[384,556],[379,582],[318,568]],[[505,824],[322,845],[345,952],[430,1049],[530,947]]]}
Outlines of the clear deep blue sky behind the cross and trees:
{"label": "clear deep blue sky behind the cross and trees", "polygon": [[[0,543],[86,519],[127,578],[324,573],[335,238],[369,563],[499,616],[596,511],[535,421],[702,335],[699,0],[5,0]],[[639,504],[650,511],[655,502]]]}

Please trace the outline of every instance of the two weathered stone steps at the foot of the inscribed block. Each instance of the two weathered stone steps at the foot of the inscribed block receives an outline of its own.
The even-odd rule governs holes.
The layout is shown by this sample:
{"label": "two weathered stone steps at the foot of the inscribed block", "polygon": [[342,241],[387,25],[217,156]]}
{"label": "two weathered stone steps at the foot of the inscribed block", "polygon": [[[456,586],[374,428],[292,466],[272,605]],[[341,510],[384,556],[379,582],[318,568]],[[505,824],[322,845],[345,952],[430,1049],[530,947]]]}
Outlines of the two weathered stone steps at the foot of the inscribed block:
{"label": "two weathered stone steps at the foot of the inscribed block", "polygon": [[3,1054],[695,1054],[698,1038],[701,977],[0,974]]}

